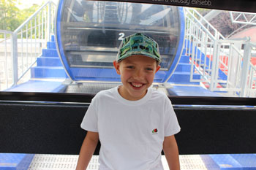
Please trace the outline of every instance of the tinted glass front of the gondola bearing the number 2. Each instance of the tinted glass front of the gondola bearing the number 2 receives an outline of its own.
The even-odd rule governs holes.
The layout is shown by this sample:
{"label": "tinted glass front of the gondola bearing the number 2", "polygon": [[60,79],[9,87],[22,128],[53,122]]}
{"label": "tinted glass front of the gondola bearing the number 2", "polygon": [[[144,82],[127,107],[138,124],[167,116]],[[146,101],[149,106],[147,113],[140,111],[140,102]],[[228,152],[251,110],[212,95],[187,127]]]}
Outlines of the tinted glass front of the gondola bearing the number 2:
{"label": "tinted glass front of the gondola bearing the number 2", "polygon": [[113,67],[124,36],[144,32],[159,42],[162,69],[170,68],[179,36],[177,7],[110,1],[65,1],[61,42],[70,67]]}

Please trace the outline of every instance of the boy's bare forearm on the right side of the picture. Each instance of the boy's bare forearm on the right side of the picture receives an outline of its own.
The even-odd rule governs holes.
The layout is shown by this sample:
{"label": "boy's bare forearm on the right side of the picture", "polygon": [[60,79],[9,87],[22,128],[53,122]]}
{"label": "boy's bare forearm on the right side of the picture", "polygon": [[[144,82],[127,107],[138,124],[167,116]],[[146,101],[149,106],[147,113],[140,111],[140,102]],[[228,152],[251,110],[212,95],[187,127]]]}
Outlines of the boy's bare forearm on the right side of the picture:
{"label": "boy's bare forearm on the right side of the picture", "polygon": [[163,150],[170,170],[180,170],[178,158],[178,146],[173,136],[166,136],[163,143]]}

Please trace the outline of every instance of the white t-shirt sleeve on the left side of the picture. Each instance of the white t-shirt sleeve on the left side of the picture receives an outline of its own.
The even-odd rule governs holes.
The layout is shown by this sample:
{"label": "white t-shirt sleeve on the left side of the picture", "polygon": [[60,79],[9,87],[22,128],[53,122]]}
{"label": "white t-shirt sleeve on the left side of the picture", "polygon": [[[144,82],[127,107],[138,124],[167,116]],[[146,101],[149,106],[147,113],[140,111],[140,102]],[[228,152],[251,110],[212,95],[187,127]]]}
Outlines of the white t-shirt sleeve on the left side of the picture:
{"label": "white t-shirt sleeve on the left side of the picture", "polygon": [[86,131],[98,132],[98,117],[97,110],[94,108],[93,103],[87,109],[86,115],[83,117],[81,128]]}

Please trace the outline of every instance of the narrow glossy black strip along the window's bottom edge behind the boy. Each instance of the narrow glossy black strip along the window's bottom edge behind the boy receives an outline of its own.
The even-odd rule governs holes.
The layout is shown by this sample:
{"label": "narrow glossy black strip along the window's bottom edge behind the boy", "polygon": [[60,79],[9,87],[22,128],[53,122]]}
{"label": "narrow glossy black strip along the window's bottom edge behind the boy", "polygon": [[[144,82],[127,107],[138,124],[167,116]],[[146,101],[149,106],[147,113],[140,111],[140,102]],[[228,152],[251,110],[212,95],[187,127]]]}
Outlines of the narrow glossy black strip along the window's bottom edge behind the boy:
{"label": "narrow glossy black strip along the window's bottom edge behind the boy", "polygon": [[[0,101],[43,101],[91,103],[94,94],[1,92]],[[256,106],[256,98],[168,96],[172,104]]]}

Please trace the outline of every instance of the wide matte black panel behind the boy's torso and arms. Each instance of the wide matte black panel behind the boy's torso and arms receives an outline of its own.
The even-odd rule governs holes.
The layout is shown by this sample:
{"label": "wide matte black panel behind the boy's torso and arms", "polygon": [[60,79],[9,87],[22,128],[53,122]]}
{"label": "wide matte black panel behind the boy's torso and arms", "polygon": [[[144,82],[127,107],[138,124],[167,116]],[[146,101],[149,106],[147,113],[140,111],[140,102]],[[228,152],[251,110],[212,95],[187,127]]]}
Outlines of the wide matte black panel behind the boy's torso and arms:
{"label": "wide matte black panel behind the boy's torso and arms", "polygon": [[[89,104],[0,104],[0,152],[78,155]],[[179,152],[256,152],[255,109],[175,108]],[[94,152],[99,154],[99,145]]]}

